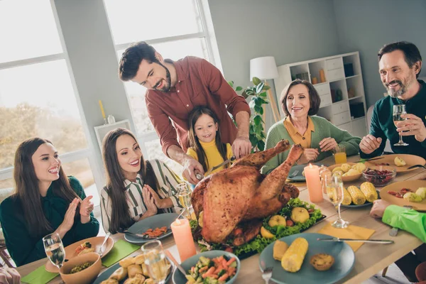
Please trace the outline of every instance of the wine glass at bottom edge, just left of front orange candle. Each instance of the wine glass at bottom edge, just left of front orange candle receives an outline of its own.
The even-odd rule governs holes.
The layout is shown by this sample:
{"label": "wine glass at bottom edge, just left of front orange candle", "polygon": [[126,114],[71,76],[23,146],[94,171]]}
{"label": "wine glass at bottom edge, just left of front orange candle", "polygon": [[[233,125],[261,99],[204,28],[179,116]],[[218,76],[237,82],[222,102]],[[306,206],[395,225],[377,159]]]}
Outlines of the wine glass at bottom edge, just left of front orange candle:
{"label": "wine glass at bottom edge, just left of front orange candle", "polygon": [[158,284],[164,284],[168,275],[167,258],[160,241],[148,241],[141,247],[149,275]]}

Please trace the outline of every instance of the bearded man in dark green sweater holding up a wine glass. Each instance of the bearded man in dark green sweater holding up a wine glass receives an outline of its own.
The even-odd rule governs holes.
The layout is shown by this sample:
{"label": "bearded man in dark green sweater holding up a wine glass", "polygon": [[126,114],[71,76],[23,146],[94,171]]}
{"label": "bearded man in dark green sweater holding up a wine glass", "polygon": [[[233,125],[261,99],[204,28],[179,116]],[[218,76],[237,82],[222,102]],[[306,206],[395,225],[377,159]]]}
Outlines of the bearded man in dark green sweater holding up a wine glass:
{"label": "bearded man in dark green sweater holding up a wine glass", "polygon": [[[386,139],[394,153],[426,158],[426,84],[417,80],[422,70],[422,56],[413,43],[389,43],[378,51],[378,67],[388,96],[376,102],[370,133],[359,144],[361,158],[383,153]],[[393,123],[393,106],[405,104],[405,120]],[[409,146],[395,146],[400,136]]]}

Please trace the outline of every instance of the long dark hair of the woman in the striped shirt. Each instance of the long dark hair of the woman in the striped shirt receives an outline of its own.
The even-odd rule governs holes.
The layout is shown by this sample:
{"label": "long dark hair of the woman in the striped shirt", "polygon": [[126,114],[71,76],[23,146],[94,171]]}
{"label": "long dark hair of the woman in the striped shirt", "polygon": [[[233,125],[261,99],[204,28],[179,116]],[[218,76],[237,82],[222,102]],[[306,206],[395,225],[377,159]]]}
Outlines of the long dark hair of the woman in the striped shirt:
{"label": "long dark hair of the woman in the striped shirt", "polygon": [[[129,135],[136,140],[136,137],[127,129],[114,129],[107,133],[102,145],[102,155],[104,158],[105,170],[107,172],[107,193],[111,200],[111,222],[109,231],[115,234],[119,229],[127,229],[134,221],[131,219],[129,205],[126,200],[126,187],[124,186],[123,171],[121,170],[116,151],[117,139],[122,135]],[[139,175],[143,182],[158,192],[158,180],[154,170],[148,161],[141,157],[141,170]]]}

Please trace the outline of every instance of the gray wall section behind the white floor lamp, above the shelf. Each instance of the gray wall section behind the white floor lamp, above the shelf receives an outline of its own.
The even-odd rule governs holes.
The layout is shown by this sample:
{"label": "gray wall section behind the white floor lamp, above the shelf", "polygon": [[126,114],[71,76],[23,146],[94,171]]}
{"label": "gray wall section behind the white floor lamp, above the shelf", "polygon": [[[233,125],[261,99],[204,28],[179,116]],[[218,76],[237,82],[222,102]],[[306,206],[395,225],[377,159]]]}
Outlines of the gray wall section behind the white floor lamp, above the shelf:
{"label": "gray wall section behind the white floor lamp, above the shelf", "polygon": [[[209,0],[209,7],[224,76],[242,87],[251,84],[252,58],[272,55],[279,66],[339,53],[332,0]],[[266,114],[268,129],[274,121]]]}

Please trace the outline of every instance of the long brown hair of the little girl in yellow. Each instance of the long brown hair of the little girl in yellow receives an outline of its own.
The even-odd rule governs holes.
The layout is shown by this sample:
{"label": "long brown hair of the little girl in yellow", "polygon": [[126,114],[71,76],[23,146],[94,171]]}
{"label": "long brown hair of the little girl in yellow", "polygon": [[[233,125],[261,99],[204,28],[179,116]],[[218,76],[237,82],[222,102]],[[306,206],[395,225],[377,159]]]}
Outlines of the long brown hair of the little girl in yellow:
{"label": "long brown hair of the little girl in yellow", "polygon": [[[208,107],[195,107],[192,109],[188,116],[189,121],[189,133],[188,133],[188,142],[189,146],[195,150],[198,156],[198,162],[202,165],[202,168],[204,169],[204,172],[207,172],[208,165],[207,165],[207,155],[204,152],[200,141],[198,140],[197,136],[195,135],[195,123],[197,120],[202,116],[203,114],[207,114],[208,116],[212,117],[215,124],[219,125],[219,119],[217,118],[217,115],[214,114],[214,112],[209,109]],[[226,160],[226,144],[222,143],[222,139],[220,138],[220,131],[219,126],[218,130],[216,131],[216,147],[217,150],[219,150],[220,155],[222,155],[222,158]],[[214,166],[214,165],[211,165]],[[228,165],[225,166],[227,168]]]}

